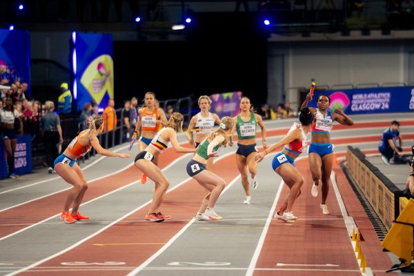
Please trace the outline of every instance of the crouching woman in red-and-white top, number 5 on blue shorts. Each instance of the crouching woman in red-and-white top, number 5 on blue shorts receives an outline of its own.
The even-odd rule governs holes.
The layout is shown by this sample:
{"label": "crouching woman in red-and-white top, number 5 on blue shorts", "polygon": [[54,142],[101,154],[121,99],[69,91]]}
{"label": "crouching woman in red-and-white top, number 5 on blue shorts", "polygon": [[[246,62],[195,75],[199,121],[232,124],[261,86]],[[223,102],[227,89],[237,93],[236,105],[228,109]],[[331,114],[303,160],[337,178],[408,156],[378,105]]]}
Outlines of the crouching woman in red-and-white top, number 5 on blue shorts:
{"label": "crouching woman in red-and-white top, number 5 on blue shorts", "polygon": [[[272,168],[290,188],[290,193],[284,200],[280,210],[275,214],[275,218],[290,222],[297,219],[292,213],[292,206],[295,199],[300,195],[300,188],[304,184],[304,177],[296,169],[294,161],[306,150],[308,141],[306,135],[311,131],[313,123],[313,113],[309,108],[303,108],[300,111],[299,121],[301,124],[293,123],[286,137],[255,157],[255,160],[260,162],[269,152],[284,146],[282,152],[277,153],[273,158]],[[283,215],[281,215],[282,213]]]}

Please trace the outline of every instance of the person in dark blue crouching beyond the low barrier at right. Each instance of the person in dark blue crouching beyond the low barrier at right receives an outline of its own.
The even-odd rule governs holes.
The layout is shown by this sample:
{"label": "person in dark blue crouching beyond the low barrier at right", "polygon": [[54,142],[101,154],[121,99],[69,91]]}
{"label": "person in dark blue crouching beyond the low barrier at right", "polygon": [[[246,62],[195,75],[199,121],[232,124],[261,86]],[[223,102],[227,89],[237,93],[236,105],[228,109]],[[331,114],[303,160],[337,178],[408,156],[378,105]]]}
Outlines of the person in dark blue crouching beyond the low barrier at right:
{"label": "person in dark blue crouching beyond the low barrier at right", "polygon": [[[391,127],[387,128],[382,133],[382,139],[378,150],[382,154],[382,161],[385,164],[390,164],[390,159],[395,156],[402,156],[402,138],[400,136],[400,123],[398,121],[391,121]],[[399,141],[400,146],[397,146],[396,141]]]}

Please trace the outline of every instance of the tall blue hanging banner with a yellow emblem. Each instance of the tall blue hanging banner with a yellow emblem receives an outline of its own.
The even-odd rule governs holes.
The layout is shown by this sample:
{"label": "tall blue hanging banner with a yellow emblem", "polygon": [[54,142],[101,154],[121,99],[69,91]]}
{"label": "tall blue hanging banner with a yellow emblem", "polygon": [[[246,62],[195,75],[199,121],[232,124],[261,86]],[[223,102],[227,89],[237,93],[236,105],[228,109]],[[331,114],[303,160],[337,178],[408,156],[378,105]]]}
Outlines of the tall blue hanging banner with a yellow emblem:
{"label": "tall blue hanging banner with a yellow emblem", "polygon": [[114,99],[114,64],[112,35],[72,33],[73,97],[77,110],[88,102],[97,103],[100,110]]}

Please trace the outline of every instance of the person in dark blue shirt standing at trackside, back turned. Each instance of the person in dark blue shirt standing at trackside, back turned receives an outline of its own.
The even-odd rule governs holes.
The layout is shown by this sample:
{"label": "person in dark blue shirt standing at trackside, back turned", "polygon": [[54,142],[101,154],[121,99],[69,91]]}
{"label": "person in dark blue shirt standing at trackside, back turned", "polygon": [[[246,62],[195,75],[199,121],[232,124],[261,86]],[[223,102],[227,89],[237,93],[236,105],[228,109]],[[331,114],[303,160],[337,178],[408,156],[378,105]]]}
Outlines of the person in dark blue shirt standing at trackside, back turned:
{"label": "person in dark blue shirt standing at trackside, back turned", "polygon": [[48,172],[55,173],[53,170],[53,162],[57,158],[57,147],[63,144],[62,128],[60,119],[53,110],[55,103],[46,101],[46,113],[41,117],[41,128],[43,130],[43,143],[46,151],[46,161],[48,163]]}

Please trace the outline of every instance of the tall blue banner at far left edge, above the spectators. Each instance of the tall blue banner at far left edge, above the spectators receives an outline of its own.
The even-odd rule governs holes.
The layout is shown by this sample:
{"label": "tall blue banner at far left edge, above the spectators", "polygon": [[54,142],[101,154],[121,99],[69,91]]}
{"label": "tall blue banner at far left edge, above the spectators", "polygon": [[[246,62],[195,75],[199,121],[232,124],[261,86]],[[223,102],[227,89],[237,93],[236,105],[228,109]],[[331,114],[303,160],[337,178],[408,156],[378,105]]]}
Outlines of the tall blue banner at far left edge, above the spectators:
{"label": "tall blue banner at far left edge, above the spectators", "polygon": [[26,30],[0,29],[0,78],[10,86],[14,81],[27,82],[30,97],[30,35]]}

